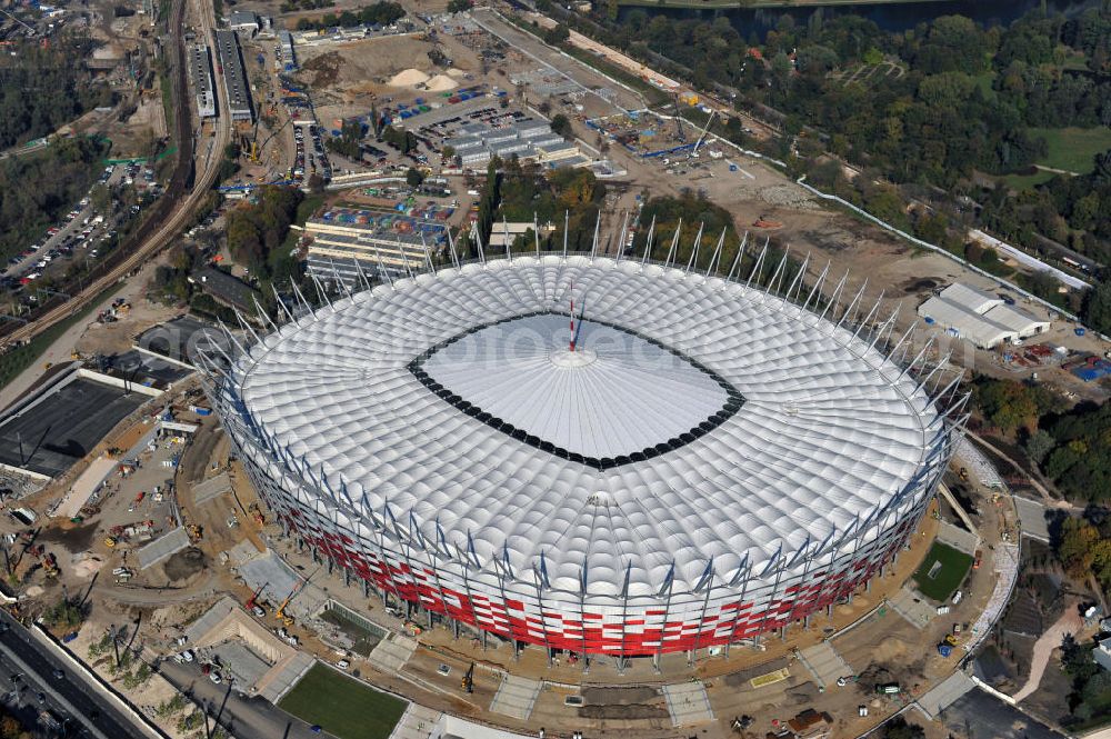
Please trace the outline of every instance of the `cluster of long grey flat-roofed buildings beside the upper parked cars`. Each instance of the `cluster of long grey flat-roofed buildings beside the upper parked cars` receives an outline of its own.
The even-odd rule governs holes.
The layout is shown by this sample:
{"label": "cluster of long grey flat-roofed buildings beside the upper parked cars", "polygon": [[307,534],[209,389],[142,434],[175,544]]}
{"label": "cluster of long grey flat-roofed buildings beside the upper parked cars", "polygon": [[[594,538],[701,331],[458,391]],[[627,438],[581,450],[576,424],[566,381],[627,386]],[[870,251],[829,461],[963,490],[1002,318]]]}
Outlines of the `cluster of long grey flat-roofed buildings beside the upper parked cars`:
{"label": "cluster of long grey flat-roofed buildings beside the upper parked cars", "polygon": [[[509,126],[494,128],[486,123],[467,123],[456,129],[456,136],[444,141],[456,150],[464,168],[483,167],[493,157],[537,160],[550,167],[567,166],[570,160],[584,163],[579,148],[551,130],[548,121],[523,118]],[[581,160],[581,162],[579,161]]]}

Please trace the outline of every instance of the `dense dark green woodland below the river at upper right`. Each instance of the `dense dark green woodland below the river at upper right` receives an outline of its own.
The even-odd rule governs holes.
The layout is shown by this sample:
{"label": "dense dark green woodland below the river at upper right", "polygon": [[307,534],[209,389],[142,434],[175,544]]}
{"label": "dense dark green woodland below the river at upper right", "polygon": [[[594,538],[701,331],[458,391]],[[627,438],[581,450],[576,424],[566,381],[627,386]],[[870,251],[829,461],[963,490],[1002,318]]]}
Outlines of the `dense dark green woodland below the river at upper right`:
{"label": "dense dark green woodland below the river at upper right", "polygon": [[[1032,189],[992,181],[1029,172],[1047,154],[1032,128],[1111,124],[1105,6],[1072,18],[1035,11],[1005,28],[944,16],[898,33],[857,16],[825,19],[817,9],[805,23],[783,14],[762,42],[724,17],[634,9],[618,20],[603,9],[564,19],[699,88],[727,92],[721,86],[728,86],[738,108],[777,123],[781,134],[761,146],[735,118],[718,131],[787,161],[792,173],[833,153],[863,170],[858,180],[943,190],[951,220],[1038,251],[1049,239],[1111,261],[1111,152],[1097,156],[1090,173]],[[882,191],[869,194],[890,200]],[[937,231],[937,223],[923,226]],[[1055,287],[1027,281],[1062,302]],[[1064,307],[1078,309],[1079,298]],[[1111,330],[1111,323],[1093,327]]]}

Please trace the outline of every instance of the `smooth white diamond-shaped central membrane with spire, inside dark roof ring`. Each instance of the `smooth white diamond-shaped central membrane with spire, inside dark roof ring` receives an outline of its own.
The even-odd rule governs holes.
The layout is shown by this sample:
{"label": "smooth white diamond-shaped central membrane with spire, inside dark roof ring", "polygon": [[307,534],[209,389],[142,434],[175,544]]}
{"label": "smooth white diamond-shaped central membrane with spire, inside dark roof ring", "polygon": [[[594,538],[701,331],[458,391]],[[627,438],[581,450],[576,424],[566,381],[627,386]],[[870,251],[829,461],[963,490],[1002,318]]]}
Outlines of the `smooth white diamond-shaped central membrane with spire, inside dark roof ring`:
{"label": "smooth white diamond-shaped central membrane with spire, inside dark roof ring", "polygon": [[528,435],[617,458],[688,433],[729,395],[708,371],[637,334],[565,314],[526,316],[434,352],[429,376]]}

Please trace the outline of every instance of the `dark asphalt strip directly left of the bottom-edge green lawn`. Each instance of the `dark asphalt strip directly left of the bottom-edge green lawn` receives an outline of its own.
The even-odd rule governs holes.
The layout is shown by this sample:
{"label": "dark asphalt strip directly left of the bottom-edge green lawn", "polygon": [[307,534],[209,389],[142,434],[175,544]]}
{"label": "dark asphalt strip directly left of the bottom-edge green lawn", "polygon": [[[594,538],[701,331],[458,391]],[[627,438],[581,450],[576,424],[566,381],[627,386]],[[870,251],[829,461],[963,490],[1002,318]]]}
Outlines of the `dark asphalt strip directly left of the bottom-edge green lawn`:
{"label": "dark asphalt strip directly left of the bottom-edge green lawn", "polygon": [[164,660],[159,672],[178,690],[209,706],[209,716],[219,717],[220,726],[231,731],[236,739],[320,739],[330,737],[318,733],[304,721],[293,718],[268,700],[242,696],[232,685],[213,683],[201,673],[198,662]]}

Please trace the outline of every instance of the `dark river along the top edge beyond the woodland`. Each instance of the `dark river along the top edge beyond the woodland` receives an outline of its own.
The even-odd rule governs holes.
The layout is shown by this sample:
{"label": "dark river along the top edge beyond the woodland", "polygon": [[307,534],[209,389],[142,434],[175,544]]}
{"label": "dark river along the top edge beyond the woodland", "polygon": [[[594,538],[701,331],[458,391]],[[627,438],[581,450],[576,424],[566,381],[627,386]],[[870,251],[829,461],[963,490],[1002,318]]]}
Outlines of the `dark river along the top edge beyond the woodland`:
{"label": "dark river along the top edge beyond the woodland", "polygon": [[[1010,23],[1023,13],[1042,4],[1041,0],[944,0],[943,2],[893,2],[889,4],[830,6],[822,7],[823,18],[837,16],[862,16],[885,31],[904,31],[939,16],[967,16],[984,26]],[[1084,8],[1099,4],[1099,0],[1045,0],[1051,13],[1072,16]],[[621,7],[621,17],[634,10],[632,6]],[[779,22],[782,16],[791,16],[797,23],[804,24],[817,8],[738,8],[731,10],[691,10],[685,8],[642,8],[649,14],[663,13],[671,18],[704,18],[717,16],[729,18],[733,27],[743,36],[755,33],[761,40]]]}

